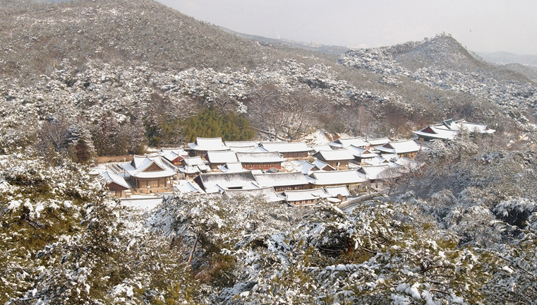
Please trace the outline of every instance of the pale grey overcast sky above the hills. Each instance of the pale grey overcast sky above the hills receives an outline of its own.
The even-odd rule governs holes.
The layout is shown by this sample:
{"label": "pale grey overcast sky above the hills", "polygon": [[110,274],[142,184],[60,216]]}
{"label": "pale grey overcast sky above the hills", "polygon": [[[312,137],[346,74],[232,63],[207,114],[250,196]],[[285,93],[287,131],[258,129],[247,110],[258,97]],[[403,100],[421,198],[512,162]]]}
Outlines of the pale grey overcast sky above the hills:
{"label": "pale grey overcast sky above the hills", "polygon": [[474,52],[537,54],[536,0],[157,0],[236,32],[349,47],[449,33]]}

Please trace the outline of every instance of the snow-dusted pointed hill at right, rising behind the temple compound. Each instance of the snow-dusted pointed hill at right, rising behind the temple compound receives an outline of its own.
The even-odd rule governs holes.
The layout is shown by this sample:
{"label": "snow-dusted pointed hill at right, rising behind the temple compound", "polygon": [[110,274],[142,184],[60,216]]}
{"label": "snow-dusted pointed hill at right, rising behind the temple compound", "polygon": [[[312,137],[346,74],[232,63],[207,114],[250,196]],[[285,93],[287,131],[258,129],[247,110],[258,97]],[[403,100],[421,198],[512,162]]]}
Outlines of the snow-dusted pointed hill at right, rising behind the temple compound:
{"label": "snow-dusted pointed hill at right, rising behind the temple compound", "polygon": [[528,109],[536,107],[536,84],[519,73],[479,61],[449,35],[347,52],[339,63],[381,75],[386,84],[399,87],[398,92],[411,88],[409,94],[400,94],[427,96],[429,102],[452,115],[489,124],[501,116],[506,125],[497,126],[507,129],[524,129],[533,121],[533,111]]}

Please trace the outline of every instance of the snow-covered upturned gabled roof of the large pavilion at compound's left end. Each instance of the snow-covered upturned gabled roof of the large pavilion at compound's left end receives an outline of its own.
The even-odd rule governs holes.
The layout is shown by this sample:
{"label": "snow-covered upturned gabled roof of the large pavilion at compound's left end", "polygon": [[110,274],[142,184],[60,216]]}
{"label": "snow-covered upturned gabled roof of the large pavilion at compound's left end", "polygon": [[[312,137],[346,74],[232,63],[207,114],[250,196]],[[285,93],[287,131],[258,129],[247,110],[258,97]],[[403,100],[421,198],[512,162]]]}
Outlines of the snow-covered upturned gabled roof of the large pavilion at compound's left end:
{"label": "snow-covered upturned gabled roof of the large pavilion at compound's left end", "polygon": [[[148,171],[145,169],[151,165],[159,167],[159,171]],[[131,177],[137,178],[165,178],[171,177],[175,174],[175,167],[168,161],[164,160],[160,155],[153,156],[133,156],[133,160],[130,163],[124,163],[121,165]]]}

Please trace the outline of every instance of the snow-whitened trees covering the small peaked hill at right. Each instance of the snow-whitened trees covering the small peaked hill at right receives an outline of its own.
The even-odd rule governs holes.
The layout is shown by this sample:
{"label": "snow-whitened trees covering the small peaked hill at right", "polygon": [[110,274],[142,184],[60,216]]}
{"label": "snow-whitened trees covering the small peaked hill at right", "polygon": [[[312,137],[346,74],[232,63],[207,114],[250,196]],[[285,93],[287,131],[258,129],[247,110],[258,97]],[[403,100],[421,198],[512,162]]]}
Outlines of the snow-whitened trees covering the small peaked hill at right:
{"label": "snow-whitened trees covering the small peaked hill at right", "polygon": [[401,85],[402,78],[406,78],[430,88],[481,98],[499,105],[502,115],[515,119],[519,126],[527,124],[526,109],[537,107],[535,83],[520,77],[502,76],[500,71],[490,70],[473,59],[466,49],[454,49],[453,44],[458,43],[451,37],[439,35],[423,42],[347,52],[339,62],[379,73],[390,85]]}

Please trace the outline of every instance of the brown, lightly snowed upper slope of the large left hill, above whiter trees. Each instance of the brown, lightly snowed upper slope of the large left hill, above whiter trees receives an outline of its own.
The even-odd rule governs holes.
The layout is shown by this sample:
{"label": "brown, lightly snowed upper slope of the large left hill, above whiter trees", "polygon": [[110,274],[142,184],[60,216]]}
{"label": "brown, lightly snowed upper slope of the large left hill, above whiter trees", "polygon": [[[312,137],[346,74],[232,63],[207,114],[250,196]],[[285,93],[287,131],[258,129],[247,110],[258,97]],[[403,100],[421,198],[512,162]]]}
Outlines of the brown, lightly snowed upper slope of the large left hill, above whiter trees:
{"label": "brown, lightly snowed upper slope of the large left hill, above whiter trees", "polygon": [[[83,66],[100,59],[115,66],[143,63],[162,70],[253,68],[276,55],[156,1],[4,1],[1,73],[45,73],[63,59]],[[24,54],[24,56],[23,56]]]}

